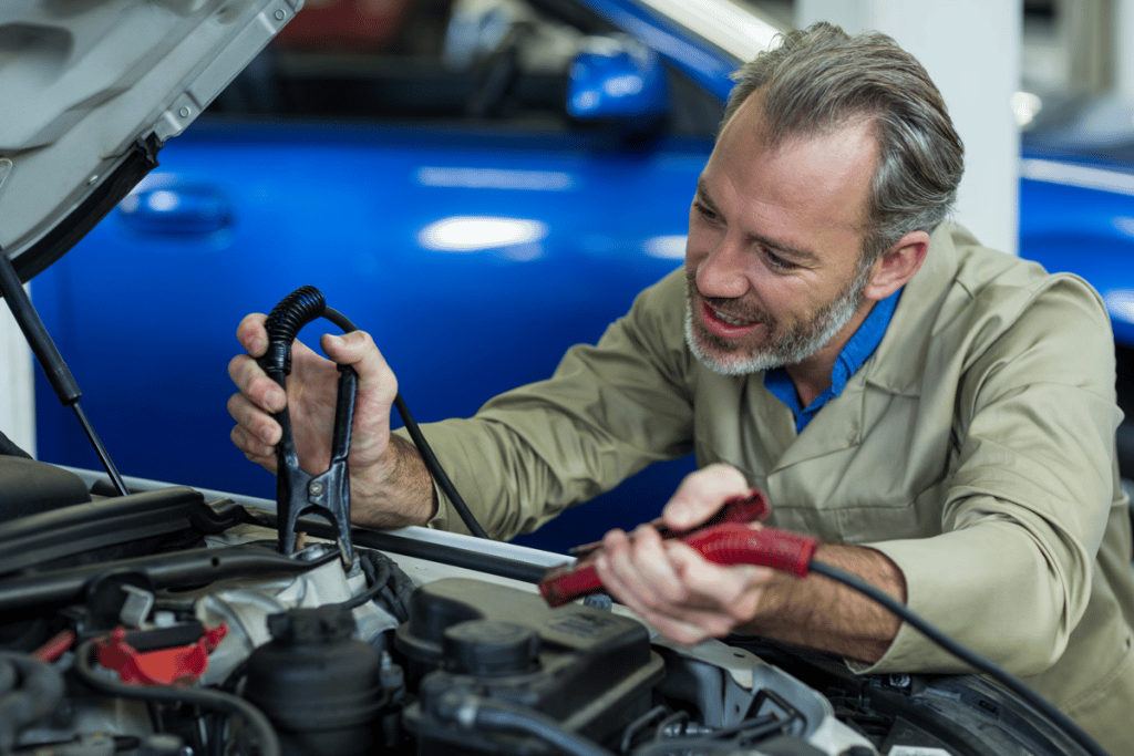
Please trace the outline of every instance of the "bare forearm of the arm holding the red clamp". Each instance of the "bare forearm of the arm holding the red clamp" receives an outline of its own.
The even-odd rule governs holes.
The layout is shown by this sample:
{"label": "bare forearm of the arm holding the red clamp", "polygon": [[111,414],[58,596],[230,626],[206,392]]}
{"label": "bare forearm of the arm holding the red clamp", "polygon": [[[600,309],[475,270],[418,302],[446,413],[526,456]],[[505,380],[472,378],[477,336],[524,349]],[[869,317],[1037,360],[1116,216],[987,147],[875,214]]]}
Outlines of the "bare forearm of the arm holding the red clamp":
{"label": "bare forearm of the arm holding the red clamp", "polygon": [[[902,570],[878,551],[821,544],[814,559],[860,577],[903,603],[906,600]],[[866,596],[819,575],[806,579],[779,575],[765,592],[755,619],[738,631],[875,662],[900,627],[894,614]]]}

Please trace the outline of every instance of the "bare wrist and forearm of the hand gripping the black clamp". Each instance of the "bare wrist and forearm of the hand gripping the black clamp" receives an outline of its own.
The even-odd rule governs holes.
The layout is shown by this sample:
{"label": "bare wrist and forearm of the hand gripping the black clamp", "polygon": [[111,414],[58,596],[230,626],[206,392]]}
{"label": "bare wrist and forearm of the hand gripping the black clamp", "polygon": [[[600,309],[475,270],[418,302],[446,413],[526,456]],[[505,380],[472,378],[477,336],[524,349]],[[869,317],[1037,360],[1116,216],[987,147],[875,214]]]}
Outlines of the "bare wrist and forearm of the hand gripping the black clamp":
{"label": "bare wrist and forearm of the hand gripping the black clamp", "polygon": [[437,512],[437,492],[414,444],[390,435],[382,458],[350,470],[350,519],[356,525],[392,528],[425,525]]}

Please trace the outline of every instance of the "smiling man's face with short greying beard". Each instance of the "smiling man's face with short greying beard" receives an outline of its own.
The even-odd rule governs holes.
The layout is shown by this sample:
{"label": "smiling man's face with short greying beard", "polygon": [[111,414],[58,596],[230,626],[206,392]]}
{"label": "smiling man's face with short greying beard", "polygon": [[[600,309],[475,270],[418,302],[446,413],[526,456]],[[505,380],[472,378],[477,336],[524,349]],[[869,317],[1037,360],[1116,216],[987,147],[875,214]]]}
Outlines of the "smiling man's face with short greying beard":
{"label": "smiling man's face with short greying beard", "polygon": [[739,375],[833,356],[870,312],[858,270],[874,169],[865,122],[760,138],[759,92],[725,126],[689,212],[687,339],[711,369]]}

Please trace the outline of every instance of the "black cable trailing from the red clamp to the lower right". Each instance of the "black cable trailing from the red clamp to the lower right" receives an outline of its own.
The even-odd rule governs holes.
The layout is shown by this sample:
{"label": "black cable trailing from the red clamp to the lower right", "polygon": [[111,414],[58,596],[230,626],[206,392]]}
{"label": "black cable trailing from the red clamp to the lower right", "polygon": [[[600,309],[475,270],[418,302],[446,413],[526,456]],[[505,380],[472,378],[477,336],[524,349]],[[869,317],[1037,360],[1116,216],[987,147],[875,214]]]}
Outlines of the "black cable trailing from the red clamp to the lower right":
{"label": "black cable trailing from the red clamp to the lower right", "polygon": [[831,567],[830,564],[824,564],[822,562],[816,562],[811,560],[807,562],[807,568],[818,575],[822,575],[832,580],[841,583],[843,585],[854,588],[858,593],[872,598],[882,606],[885,606],[890,612],[894,612],[903,622],[914,627],[926,638],[936,643],[937,645],[945,648],[947,652],[965,662],[973,669],[976,669],[984,674],[1002,685],[1005,688],[1012,690],[1014,694],[1026,700],[1029,704],[1034,706],[1040,711],[1041,714],[1055,722],[1059,728],[1061,728],[1075,742],[1083,747],[1089,754],[1093,756],[1110,756],[1103,748],[1094,741],[1094,738],[1089,736],[1083,731],[1081,727],[1075,724],[1069,716],[1064,714],[1061,711],[1052,706],[1046,698],[1041,697],[1038,693],[1029,688],[1018,678],[1014,677],[1006,670],[998,666],[995,662],[984,659],[974,651],[962,646],[959,643],[947,636],[941,630],[937,629],[921,617],[914,614],[909,611],[909,608],[899,601],[896,601],[889,594],[882,592],[881,589],[872,586],[865,580],[845,572],[837,567]]}

